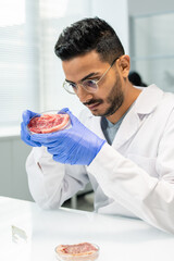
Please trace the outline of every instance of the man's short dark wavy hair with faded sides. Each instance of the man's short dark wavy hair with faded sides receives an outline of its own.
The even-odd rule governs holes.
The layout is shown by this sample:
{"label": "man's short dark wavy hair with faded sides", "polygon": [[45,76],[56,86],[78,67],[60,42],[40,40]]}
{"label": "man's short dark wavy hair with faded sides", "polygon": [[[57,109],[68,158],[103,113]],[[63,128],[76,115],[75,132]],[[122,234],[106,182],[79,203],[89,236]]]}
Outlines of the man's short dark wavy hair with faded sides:
{"label": "man's short dark wavy hair with faded sides", "polygon": [[124,54],[124,48],[114,29],[99,17],[84,18],[66,27],[60,35],[54,51],[62,60],[96,50],[102,61],[111,63]]}

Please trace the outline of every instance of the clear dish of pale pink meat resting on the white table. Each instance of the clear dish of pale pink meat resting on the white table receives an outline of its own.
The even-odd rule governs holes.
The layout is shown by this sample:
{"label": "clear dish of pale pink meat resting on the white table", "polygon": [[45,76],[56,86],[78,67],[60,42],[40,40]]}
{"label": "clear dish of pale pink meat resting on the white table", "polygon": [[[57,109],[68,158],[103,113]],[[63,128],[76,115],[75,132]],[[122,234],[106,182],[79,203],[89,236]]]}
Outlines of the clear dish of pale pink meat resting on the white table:
{"label": "clear dish of pale pink meat resting on the white table", "polygon": [[[85,243],[86,244],[86,243]],[[77,245],[59,245],[55,247],[55,257],[60,261],[95,261],[99,257],[99,247],[96,244],[88,244],[91,246],[91,250],[87,251],[75,251],[71,250],[71,252],[65,251],[65,248],[77,248],[82,246],[83,244]]]}

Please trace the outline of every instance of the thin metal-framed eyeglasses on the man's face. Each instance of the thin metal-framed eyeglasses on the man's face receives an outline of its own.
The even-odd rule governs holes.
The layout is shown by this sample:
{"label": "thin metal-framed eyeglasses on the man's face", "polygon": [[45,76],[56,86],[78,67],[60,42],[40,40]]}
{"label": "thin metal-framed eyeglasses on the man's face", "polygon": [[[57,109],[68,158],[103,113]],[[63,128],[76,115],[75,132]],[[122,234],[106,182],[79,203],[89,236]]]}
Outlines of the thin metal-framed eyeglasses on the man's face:
{"label": "thin metal-framed eyeglasses on the man's face", "polygon": [[113,62],[111,63],[111,65],[109,66],[109,69],[107,69],[107,71],[103,73],[103,75],[98,79],[85,79],[83,80],[80,84],[73,84],[73,83],[69,83],[67,80],[64,80],[63,83],[63,88],[71,95],[76,95],[77,90],[78,90],[78,85],[80,85],[85,90],[87,90],[88,92],[96,92],[98,89],[98,84],[99,82],[107,75],[107,73],[110,71],[110,69],[113,66],[114,62],[117,60],[119,58],[115,58],[113,60]]}

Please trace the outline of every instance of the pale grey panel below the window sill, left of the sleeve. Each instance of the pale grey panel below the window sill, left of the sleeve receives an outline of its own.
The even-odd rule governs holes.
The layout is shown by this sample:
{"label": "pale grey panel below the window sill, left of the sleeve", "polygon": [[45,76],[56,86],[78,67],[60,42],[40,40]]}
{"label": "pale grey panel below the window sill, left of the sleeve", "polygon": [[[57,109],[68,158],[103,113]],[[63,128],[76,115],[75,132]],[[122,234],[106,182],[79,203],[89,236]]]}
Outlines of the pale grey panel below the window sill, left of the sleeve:
{"label": "pale grey panel below the window sill, left of the sleeve", "polygon": [[18,136],[0,137],[0,196],[32,200],[25,172],[29,151]]}

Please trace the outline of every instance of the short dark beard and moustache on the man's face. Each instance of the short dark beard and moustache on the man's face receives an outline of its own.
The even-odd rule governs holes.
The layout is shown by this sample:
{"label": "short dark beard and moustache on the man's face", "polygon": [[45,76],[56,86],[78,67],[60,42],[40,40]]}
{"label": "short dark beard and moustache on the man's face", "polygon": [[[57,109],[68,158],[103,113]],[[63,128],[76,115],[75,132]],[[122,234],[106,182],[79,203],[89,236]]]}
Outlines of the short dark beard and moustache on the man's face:
{"label": "short dark beard and moustache on the man's face", "polygon": [[115,113],[120,107],[123,104],[124,101],[124,94],[122,90],[122,84],[121,84],[121,79],[120,76],[116,75],[116,80],[112,87],[112,89],[110,90],[108,97],[103,100],[103,99],[91,99],[88,102],[85,102],[84,104],[92,104],[92,103],[107,103],[108,108],[103,111],[103,112],[98,112],[95,111],[92,112],[92,114],[95,116],[110,116],[113,113]]}

